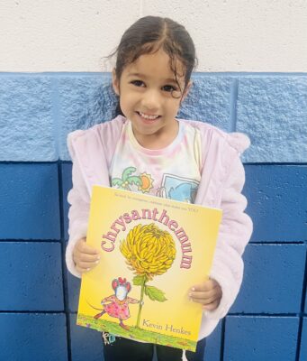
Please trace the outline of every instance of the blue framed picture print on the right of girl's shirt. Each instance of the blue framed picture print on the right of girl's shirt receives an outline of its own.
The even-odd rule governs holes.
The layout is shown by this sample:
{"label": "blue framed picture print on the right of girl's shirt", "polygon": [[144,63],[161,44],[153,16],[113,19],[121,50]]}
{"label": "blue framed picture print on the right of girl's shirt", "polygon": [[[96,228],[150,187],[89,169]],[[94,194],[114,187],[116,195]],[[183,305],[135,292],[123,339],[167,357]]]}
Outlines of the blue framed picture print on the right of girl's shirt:
{"label": "blue framed picture print on the right of girl's shirt", "polygon": [[173,174],[164,174],[158,197],[194,203],[199,182]]}

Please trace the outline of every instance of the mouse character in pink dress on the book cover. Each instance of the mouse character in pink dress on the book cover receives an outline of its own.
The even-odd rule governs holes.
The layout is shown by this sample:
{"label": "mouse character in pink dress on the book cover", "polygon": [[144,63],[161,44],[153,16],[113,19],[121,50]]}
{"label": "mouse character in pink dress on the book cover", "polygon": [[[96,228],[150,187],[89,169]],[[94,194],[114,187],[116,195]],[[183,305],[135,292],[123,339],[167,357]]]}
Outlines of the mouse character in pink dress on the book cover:
{"label": "mouse character in pink dress on the book cover", "polygon": [[102,311],[97,313],[94,318],[99,319],[104,313],[107,313],[109,316],[120,320],[122,329],[129,329],[129,327],[122,322],[124,319],[129,319],[131,317],[129,303],[140,303],[140,301],[128,297],[128,293],[131,291],[131,283],[127,282],[125,278],[115,278],[112,282],[112,288],[114,294],[105,297],[101,301],[104,309],[100,309]]}

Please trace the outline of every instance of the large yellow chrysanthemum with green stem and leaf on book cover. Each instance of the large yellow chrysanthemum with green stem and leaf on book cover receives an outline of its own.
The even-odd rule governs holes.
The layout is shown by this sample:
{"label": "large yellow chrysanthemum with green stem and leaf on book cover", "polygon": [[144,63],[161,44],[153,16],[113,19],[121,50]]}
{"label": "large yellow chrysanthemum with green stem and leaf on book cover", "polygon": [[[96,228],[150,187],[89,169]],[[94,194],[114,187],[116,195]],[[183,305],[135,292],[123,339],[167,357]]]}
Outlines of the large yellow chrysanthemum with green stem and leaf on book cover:
{"label": "large yellow chrysanthemum with green stem and leaf on book cover", "polygon": [[154,276],[166,273],[176,257],[176,245],[172,236],[154,223],[135,226],[120,245],[126,264],[135,274],[133,284],[140,286],[140,305],[136,327],[140,328],[140,313],[144,295],[151,301],[167,301],[165,292],[149,286]]}

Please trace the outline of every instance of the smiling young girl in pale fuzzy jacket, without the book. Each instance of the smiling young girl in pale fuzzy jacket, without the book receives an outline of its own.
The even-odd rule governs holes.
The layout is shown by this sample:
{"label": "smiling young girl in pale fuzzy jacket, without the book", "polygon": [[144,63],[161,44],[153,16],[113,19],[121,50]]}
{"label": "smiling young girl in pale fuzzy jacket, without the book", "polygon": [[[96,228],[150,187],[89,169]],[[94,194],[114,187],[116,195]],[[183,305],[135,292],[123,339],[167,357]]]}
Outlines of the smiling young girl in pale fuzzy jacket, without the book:
{"label": "smiling young girl in pale fuzzy jacket, without the book", "polygon": [[[201,361],[205,338],[230,309],[242,280],[241,255],[252,223],[244,214],[247,201],[240,192],[245,177],[239,155],[248,147],[248,138],[176,119],[192,86],[196,61],[184,26],[167,18],[141,18],[124,32],[116,55],[113,89],[121,115],[68,136],[73,160],[68,270],[80,277],[100,262],[99,251],[86,245],[91,189],[94,184],[124,188],[118,181],[124,171],[141,180],[131,185],[132,190],[221,208],[210,279],[191,284],[189,290],[191,301],[203,305],[196,352],[157,347],[159,361]],[[106,361],[149,361],[152,355],[153,345],[125,338],[104,346]]]}

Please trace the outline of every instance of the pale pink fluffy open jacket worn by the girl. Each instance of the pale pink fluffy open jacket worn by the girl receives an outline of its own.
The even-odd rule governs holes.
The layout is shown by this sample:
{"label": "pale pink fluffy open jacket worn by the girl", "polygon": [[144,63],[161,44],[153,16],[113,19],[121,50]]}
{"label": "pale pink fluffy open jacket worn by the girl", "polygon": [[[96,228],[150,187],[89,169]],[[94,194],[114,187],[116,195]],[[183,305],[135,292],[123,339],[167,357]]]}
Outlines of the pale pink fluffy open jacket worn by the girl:
{"label": "pale pink fluffy open jacket worn by the girl", "polygon": [[[72,258],[77,240],[86,236],[92,186],[110,186],[109,167],[122,125],[127,120],[117,116],[110,122],[68,134],[68,149],[73,161],[73,188],[68,193],[70,204],[69,241],[66,261],[70,273],[80,277]],[[246,198],[241,194],[245,181],[239,156],[248,148],[244,134],[227,134],[201,122],[181,119],[197,127],[202,136],[202,180],[196,204],[221,208],[223,216],[210,277],[220,283],[222,298],[219,307],[203,312],[199,338],[208,336],[235,301],[242,282],[242,254],[252,232],[252,222],[244,213]],[[202,272],[200,270],[200,272]]]}

